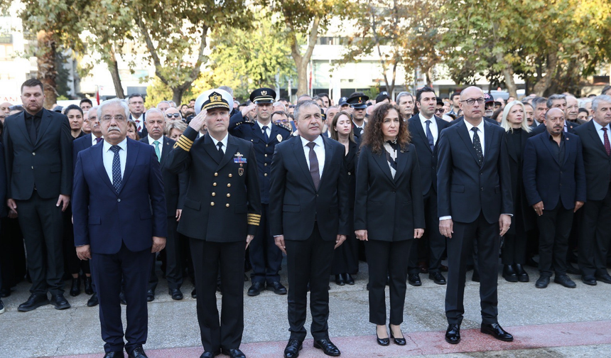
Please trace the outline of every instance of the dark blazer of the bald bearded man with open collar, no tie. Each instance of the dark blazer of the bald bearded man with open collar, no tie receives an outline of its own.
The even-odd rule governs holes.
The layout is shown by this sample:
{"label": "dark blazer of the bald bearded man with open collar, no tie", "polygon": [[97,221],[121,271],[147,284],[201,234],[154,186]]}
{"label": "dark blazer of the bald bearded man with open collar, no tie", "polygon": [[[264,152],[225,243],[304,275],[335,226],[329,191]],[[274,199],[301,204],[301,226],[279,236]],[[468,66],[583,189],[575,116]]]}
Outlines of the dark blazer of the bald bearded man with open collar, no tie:
{"label": "dark blazer of the bald bearded man with open collar, no tie", "polygon": [[[599,139],[600,141],[600,139]],[[558,161],[549,140],[548,131],[526,141],[524,158],[524,189],[529,205],[543,201],[547,210],[553,210],[558,201],[565,209],[573,209],[575,201],[585,202],[585,169],[581,153],[581,140],[571,133],[564,134],[564,159]]]}

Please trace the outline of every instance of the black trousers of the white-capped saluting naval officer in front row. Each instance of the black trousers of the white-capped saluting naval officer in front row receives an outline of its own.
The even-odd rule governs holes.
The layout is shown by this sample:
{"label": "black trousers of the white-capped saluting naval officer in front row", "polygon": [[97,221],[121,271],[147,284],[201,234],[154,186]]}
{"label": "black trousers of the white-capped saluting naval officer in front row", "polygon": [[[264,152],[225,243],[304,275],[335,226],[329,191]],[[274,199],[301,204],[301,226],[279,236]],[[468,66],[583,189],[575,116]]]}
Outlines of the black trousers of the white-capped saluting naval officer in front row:
{"label": "black trousers of the white-capped saluting naval officer in front row", "polygon": [[[206,352],[239,348],[244,332],[243,242],[207,242],[190,238],[198,290],[198,322]],[[223,283],[222,311],[217,309],[217,273]]]}

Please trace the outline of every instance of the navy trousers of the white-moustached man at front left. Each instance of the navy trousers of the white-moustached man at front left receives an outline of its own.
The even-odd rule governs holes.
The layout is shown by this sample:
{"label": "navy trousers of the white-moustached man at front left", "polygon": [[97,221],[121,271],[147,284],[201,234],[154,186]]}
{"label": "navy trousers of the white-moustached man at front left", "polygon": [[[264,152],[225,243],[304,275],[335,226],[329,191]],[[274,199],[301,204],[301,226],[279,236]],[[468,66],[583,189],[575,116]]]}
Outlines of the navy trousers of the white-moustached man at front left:
{"label": "navy trousers of the white-moustached man at front left", "polygon": [[[99,323],[102,327],[104,352],[125,350],[131,353],[136,345],[144,345],[148,337],[146,285],[151,267],[151,249],[129,251],[125,244],[117,254],[92,254],[93,281],[99,300]],[[123,341],[121,322],[121,278],[125,283],[127,327]]]}

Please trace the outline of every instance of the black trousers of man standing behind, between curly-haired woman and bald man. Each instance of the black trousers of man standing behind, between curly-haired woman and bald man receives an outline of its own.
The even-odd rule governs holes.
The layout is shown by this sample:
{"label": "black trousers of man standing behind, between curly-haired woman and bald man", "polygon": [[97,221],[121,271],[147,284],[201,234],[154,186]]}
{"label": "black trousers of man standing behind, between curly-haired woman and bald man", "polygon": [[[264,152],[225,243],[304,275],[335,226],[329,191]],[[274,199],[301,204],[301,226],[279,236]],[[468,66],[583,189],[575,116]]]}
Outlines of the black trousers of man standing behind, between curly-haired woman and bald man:
{"label": "black trousers of man standing behind, between curly-haired woman and bald man", "polygon": [[[445,238],[439,232],[439,217],[437,215],[437,193],[433,189],[424,197],[424,219],[426,227],[421,239],[416,240],[409,256],[409,273],[420,273],[418,256],[428,259],[428,272],[439,272],[441,256],[445,251]],[[421,252],[423,254],[418,254]]]}

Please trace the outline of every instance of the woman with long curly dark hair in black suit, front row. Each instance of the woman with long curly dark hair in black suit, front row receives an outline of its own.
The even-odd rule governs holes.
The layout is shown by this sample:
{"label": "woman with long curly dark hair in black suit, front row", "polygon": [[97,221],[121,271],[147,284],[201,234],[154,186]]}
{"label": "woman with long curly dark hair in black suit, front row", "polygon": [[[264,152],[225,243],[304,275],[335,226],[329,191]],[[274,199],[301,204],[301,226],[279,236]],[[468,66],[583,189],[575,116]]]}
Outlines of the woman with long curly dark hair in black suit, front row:
{"label": "woman with long curly dark hair in black suit, front row", "polygon": [[416,148],[407,123],[392,104],[374,109],[362,136],[357,166],[355,234],[365,241],[369,266],[369,322],[377,342],[389,345],[384,288],[390,276],[390,335],[401,333],[407,264],[413,239],[424,232],[424,202]]}

